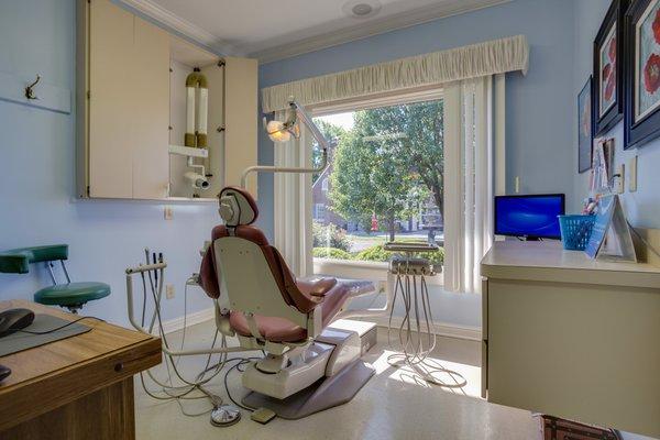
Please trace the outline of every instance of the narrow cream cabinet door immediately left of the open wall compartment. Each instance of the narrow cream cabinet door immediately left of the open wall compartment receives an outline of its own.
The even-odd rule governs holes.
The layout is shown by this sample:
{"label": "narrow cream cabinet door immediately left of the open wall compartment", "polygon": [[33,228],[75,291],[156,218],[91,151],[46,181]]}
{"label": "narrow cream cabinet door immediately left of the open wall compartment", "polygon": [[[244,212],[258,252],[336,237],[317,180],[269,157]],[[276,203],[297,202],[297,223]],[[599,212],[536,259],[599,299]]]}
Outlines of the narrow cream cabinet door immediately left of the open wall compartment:
{"label": "narrow cream cabinet door immediately left of the open wall compartment", "polygon": [[169,36],[138,16],[134,34],[133,198],[161,199],[169,184]]}

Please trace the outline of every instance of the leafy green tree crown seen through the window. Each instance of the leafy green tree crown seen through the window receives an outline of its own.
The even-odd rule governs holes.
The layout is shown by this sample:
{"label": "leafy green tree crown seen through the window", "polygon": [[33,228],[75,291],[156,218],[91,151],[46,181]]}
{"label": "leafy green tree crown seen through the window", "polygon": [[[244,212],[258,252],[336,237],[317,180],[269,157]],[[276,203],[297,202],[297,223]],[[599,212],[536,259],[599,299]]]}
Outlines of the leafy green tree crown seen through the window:
{"label": "leafy green tree crown seen through the window", "polygon": [[442,211],[442,101],[362,110],[354,118],[334,153],[332,210],[370,227],[375,213],[392,240],[396,221],[430,195]]}

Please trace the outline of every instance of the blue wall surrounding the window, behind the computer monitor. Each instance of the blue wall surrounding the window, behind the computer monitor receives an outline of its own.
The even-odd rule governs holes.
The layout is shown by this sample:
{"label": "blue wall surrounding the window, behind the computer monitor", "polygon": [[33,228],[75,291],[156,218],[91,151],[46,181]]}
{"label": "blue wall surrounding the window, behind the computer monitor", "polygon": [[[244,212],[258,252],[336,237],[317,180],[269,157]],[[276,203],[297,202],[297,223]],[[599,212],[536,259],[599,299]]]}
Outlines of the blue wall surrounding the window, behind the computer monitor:
{"label": "blue wall surrounding the window, behind the computer monitor", "polygon": [[[369,64],[525,34],[527,76],[507,76],[507,190],[520,176],[522,193],[573,194],[573,6],[571,0],[510,3],[263,65],[260,86],[330,74]],[[273,144],[260,139],[260,163],[273,163]],[[272,237],[272,176],[260,177],[262,227]],[[439,322],[481,328],[481,296],[432,288]]]}

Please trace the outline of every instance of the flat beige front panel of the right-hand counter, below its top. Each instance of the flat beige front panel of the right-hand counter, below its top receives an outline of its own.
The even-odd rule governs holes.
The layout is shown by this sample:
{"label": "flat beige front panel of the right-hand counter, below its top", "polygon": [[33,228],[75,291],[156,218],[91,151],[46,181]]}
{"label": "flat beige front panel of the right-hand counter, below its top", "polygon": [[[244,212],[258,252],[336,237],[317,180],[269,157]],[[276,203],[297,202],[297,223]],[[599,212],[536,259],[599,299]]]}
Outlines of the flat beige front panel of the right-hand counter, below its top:
{"label": "flat beige front panel of the right-hand counter, below its top", "polygon": [[660,290],[488,280],[488,400],[660,436]]}

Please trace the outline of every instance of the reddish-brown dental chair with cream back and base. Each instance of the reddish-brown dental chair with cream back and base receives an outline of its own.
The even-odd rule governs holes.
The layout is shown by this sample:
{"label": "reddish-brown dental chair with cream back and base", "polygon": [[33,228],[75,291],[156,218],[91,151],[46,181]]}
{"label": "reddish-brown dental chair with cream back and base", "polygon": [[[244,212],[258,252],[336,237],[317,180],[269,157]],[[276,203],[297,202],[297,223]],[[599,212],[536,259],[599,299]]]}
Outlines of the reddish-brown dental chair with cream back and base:
{"label": "reddish-brown dental chair with cream back and base", "polygon": [[360,360],[358,334],[331,324],[350,315],[341,310],[351,297],[365,294],[364,284],[296,279],[252,226],[258,217],[252,196],[228,187],[218,197],[226,224],[212,231],[200,285],[211,298],[229,302],[217,314],[219,330],[235,336],[243,349],[265,353],[243,373],[251,391],[243,405],[298,419],[351,400],[374,369]]}

